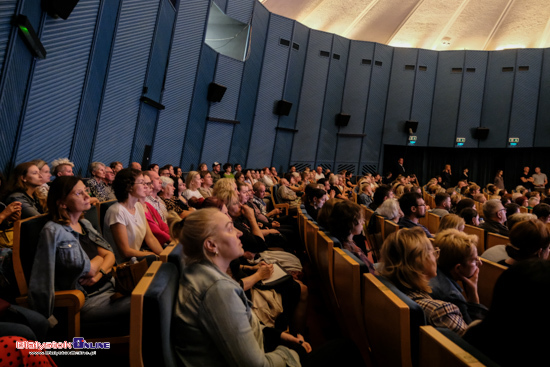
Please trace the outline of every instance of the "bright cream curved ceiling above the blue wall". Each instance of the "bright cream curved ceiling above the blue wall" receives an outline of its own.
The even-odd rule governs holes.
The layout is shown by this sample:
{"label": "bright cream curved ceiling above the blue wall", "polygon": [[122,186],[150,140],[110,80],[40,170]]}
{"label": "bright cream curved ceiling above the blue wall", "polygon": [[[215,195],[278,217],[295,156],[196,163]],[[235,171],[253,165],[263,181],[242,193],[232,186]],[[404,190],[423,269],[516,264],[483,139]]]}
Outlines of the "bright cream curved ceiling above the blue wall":
{"label": "bright cream curved ceiling above the blue wall", "polygon": [[548,0],[260,1],[270,12],[310,28],[396,47],[550,47]]}

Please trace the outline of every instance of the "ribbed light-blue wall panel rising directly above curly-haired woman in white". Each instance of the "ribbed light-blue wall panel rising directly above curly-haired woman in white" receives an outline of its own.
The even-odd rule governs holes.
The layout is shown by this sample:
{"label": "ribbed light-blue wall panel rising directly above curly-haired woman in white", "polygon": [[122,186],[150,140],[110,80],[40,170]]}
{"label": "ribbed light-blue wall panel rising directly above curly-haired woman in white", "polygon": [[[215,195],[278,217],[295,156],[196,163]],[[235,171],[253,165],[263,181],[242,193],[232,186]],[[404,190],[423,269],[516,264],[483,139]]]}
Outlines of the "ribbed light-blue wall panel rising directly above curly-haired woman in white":
{"label": "ribbed light-blue wall panel rising directly above curly-haired woman in white", "polygon": [[[94,161],[130,163],[159,1],[124,0],[94,147]],[[136,42],[135,40],[139,40]]]}

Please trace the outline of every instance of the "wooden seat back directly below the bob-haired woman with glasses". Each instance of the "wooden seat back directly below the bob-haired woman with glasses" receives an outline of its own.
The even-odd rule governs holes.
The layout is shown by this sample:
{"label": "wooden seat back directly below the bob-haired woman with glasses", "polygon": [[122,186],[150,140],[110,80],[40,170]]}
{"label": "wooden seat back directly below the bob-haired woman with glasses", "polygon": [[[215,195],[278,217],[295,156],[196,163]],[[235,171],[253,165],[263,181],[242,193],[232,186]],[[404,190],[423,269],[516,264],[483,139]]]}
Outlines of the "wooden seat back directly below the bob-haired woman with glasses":
{"label": "wooden seat back directly below the bob-haired woman with glasses", "polygon": [[[383,282],[384,281],[384,282]],[[390,287],[388,287],[390,285]],[[363,274],[363,316],[369,344],[375,365],[388,367],[411,367],[416,365],[418,342],[418,309],[421,316],[424,312],[420,306],[409,298],[416,310],[414,325],[411,322],[411,311],[404,299],[393,290],[387,279],[372,274]],[[406,297],[406,296],[405,296]],[[407,297],[408,298],[408,297]],[[425,324],[425,317],[422,324]],[[415,330],[414,344],[411,334]],[[413,356],[413,353],[414,356]]]}

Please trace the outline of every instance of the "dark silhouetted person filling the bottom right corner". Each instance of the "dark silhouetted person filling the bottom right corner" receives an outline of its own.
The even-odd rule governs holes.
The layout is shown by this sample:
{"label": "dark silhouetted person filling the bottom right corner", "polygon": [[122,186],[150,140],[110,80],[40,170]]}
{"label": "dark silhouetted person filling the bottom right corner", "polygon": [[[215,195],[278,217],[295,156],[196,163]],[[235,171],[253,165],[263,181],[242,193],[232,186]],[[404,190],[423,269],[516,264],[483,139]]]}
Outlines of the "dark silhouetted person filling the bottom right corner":
{"label": "dark silhouetted person filling the bottom right corner", "polygon": [[502,367],[545,366],[550,328],[550,262],[525,260],[497,280],[491,309],[464,339]]}

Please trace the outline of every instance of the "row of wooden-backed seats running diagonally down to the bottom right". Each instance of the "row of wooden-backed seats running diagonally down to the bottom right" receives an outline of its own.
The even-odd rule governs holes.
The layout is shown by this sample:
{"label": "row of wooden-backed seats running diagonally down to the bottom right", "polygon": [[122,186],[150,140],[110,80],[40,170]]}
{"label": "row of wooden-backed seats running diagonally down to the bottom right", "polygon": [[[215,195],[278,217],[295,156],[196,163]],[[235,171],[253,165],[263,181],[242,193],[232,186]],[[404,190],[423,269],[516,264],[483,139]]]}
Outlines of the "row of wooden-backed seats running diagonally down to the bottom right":
{"label": "row of wooden-backed seats running diagonally down to the bottom right", "polygon": [[[363,351],[367,365],[495,365],[452,331],[426,325],[417,303],[386,278],[370,274],[305,209],[298,213],[298,225],[325,298],[345,335]],[[399,229],[388,224],[385,234],[393,230]]]}

